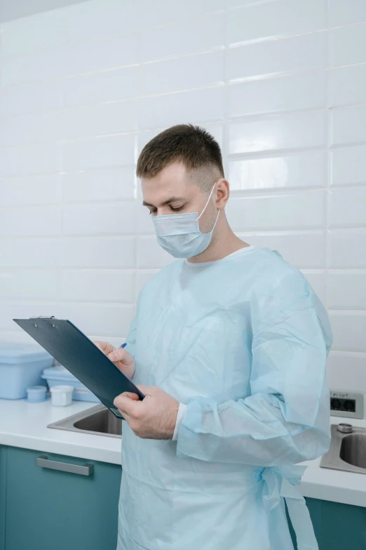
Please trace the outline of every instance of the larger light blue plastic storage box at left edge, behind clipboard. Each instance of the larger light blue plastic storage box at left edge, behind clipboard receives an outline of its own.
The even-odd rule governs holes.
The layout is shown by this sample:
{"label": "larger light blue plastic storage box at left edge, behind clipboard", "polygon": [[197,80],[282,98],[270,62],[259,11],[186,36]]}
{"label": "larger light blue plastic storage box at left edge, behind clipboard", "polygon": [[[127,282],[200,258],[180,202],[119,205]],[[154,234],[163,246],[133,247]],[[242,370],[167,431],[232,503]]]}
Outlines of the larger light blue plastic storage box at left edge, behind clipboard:
{"label": "larger light blue plastic storage box at left edge, behind clipboard", "polygon": [[52,364],[52,355],[41,346],[0,342],[0,398],[22,399],[28,386],[44,386],[42,371]]}

